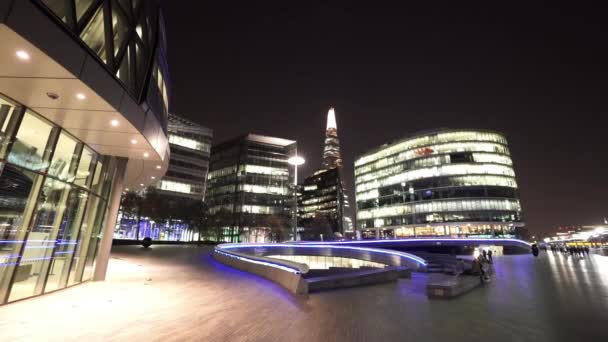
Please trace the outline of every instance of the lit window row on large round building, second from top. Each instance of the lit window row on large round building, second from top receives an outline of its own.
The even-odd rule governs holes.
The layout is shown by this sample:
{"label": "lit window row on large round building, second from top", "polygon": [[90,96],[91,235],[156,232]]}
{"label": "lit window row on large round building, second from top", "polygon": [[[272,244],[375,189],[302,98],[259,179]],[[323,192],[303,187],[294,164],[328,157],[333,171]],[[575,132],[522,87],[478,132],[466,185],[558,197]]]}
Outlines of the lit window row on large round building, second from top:
{"label": "lit window row on large round building, second from top", "polygon": [[[429,157],[438,154],[463,153],[463,152],[485,152],[493,154],[509,155],[509,149],[501,144],[487,142],[448,142],[441,145],[428,146],[424,149],[407,150],[399,154],[390,154],[376,160],[374,163],[362,166],[355,166],[355,175],[361,175],[374,170],[379,170],[387,166],[399,164],[408,160],[421,157]],[[355,164],[357,164],[355,162]],[[510,164],[510,163],[508,163]]]}

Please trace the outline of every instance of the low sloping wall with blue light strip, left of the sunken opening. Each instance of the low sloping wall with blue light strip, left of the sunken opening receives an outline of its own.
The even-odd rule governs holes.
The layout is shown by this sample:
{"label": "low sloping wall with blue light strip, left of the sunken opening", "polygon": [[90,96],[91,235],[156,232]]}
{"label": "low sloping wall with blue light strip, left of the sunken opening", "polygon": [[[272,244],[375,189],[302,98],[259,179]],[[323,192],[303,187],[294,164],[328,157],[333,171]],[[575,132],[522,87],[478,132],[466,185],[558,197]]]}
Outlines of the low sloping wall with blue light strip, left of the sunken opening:
{"label": "low sloping wall with blue light strip, left of the sunken opening", "polygon": [[302,271],[308,271],[306,265],[256,258],[242,253],[218,250],[217,247],[213,258],[228,266],[271,280],[295,294],[308,293],[308,283],[302,278]]}

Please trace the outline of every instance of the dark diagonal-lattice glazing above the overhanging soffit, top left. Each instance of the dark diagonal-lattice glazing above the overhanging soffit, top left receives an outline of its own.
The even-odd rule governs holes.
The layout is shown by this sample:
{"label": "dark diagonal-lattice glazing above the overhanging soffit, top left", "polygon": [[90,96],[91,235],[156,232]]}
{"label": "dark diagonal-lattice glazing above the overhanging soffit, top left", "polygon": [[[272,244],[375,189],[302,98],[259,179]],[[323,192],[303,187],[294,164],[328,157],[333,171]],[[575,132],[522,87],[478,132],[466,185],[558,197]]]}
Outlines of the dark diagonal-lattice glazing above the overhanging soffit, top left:
{"label": "dark diagonal-lattice glazing above the overhanging soffit, top left", "polygon": [[164,24],[158,1],[36,2],[60,24],[80,37],[91,54],[99,58],[134,99],[140,102],[145,98],[161,126],[166,128],[169,115],[169,73]]}

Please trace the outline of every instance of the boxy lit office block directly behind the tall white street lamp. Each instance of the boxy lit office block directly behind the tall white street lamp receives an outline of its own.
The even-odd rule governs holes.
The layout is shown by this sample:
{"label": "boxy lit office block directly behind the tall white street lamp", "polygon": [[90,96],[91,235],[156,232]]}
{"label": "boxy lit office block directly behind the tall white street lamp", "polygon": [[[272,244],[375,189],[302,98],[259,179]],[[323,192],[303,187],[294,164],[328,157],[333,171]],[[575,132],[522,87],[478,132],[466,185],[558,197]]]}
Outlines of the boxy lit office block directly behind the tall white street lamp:
{"label": "boxy lit office block directly behind the tall white street lamp", "polygon": [[289,227],[293,212],[293,140],[248,134],[211,148],[205,201],[223,218],[224,241],[264,242]]}

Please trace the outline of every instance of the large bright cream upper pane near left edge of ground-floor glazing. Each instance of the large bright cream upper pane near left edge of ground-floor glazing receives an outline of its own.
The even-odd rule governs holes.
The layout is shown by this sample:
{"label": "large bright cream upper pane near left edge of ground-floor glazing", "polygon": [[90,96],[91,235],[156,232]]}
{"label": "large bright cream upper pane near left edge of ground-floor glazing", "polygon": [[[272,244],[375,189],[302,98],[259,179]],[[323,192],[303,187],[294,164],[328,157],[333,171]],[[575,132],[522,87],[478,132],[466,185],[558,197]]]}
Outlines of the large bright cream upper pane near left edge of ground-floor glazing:
{"label": "large bright cream upper pane near left edge of ground-floor glazing", "polygon": [[26,112],[11,147],[8,161],[30,170],[45,170],[48,161],[44,160],[44,152],[52,129],[53,127],[47,122]]}

